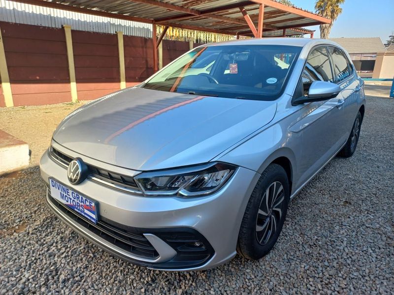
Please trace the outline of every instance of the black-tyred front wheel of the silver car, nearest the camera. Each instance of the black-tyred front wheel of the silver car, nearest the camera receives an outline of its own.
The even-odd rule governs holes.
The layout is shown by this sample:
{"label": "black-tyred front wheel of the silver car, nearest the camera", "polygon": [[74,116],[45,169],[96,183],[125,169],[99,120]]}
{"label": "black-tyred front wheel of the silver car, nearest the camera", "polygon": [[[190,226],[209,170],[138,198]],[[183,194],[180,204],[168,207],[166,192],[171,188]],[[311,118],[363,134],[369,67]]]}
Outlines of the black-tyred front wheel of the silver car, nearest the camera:
{"label": "black-tyred front wheel of the silver car, nearest the camera", "polygon": [[280,165],[270,164],[262,173],[246,206],[238,235],[239,255],[258,260],[273,248],[286,218],[289,190],[286,171]]}

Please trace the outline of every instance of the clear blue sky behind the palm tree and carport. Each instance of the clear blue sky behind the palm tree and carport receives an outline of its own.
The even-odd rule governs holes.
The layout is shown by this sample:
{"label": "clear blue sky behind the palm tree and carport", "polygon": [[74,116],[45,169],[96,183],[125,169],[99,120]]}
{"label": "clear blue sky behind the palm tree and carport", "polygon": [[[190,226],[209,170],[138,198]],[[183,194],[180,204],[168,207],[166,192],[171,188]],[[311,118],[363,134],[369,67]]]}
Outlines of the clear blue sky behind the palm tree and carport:
{"label": "clear blue sky behind the palm tree and carport", "polygon": [[[300,8],[315,11],[315,0],[291,0]],[[380,37],[383,43],[394,32],[394,0],[345,0],[329,34],[330,37]],[[319,26],[314,29],[320,38]]]}

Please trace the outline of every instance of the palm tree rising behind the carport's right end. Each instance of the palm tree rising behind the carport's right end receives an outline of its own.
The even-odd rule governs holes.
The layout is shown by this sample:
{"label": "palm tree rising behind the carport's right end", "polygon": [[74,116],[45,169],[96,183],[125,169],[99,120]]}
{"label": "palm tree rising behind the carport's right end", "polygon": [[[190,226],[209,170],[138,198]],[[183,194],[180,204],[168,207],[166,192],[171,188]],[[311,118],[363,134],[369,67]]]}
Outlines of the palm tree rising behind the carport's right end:
{"label": "palm tree rising behind the carport's right end", "polygon": [[332,25],[336,18],[342,13],[339,4],[343,4],[345,0],[317,0],[315,4],[316,13],[331,20],[331,24],[320,25],[320,37],[327,39]]}

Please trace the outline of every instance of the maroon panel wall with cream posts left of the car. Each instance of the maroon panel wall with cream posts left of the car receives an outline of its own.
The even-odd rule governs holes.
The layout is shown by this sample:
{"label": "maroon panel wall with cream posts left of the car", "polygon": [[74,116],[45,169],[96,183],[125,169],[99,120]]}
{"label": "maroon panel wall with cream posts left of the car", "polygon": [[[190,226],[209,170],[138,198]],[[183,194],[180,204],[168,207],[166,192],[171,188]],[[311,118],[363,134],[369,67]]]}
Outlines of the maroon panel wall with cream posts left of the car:
{"label": "maroon panel wall with cream posts left of the car", "polygon": [[[95,99],[153,74],[152,39],[68,29],[0,22],[0,107]],[[163,66],[190,48],[162,46]]]}

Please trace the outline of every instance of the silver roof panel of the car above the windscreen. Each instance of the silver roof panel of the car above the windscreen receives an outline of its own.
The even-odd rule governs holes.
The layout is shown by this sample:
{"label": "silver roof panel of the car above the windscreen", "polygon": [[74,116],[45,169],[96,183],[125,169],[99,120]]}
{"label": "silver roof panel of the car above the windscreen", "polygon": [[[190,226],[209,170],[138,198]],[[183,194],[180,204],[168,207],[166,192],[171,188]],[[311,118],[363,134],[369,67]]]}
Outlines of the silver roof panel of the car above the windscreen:
{"label": "silver roof panel of the car above the windscreen", "polygon": [[222,46],[222,45],[291,45],[304,47],[305,45],[314,46],[318,44],[332,44],[339,46],[337,43],[327,39],[309,39],[309,38],[250,38],[230,40],[217,43],[205,44],[203,46]]}

